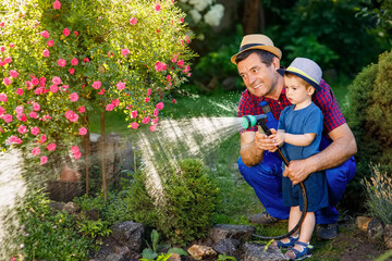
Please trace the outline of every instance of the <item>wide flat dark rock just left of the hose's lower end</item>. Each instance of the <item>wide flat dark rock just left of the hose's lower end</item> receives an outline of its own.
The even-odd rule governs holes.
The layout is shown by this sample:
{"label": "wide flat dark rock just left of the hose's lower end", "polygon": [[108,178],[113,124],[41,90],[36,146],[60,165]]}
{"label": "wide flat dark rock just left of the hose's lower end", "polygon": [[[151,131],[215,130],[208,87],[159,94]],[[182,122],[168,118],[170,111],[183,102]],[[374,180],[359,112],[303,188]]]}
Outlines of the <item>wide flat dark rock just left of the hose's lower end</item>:
{"label": "wide flat dark rock just left of the hose's lower end", "polygon": [[255,226],[218,224],[211,227],[209,236],[215,244],[218,244],[223,238],[247,241],[255,232]]}

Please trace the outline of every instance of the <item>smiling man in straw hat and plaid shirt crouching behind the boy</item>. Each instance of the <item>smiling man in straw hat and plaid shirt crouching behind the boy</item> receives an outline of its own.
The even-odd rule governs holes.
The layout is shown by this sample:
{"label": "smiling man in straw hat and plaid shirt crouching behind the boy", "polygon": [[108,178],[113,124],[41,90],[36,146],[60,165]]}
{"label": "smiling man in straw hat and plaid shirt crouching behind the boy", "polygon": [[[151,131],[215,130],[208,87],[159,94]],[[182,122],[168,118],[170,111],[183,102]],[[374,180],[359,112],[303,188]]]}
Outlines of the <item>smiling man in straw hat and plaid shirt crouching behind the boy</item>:
{"label": "smiling man in straw hat and plaid shirt crouching behind the boy", "polygon": [[[281,57],[281,50],[265,35],[247,35],[243,38],[238,53],[231,58],[246,86],[240,99],[237,116],[257,115],[271,110],[267,125],[277,129],[280,113],[291,104],[285,97]],[[335,223],[339,217],[334,207],[355,175],[353,156],[357,148],[331,88],[323,79],[320,86],[321,91],[313,98],[323,114],[324,133],[320,152],[304,160],[291,161],[282,173],[282,161],[275,153],[268,152],[275,148],[275,144],[253,127],[241,134],[238,169],[266,208],[266,212],[249,217],[249,222],[258,224],[270,224],[289,216],[290,208],[282,200],[282,175],[290,177],[295,185],[310,173],[326,171],[330,207],[315,213],[318,224],[316,235],[320,239],[333,239],[338,235]],[[267,102],[269,107],[261,107],[260,102]]]}

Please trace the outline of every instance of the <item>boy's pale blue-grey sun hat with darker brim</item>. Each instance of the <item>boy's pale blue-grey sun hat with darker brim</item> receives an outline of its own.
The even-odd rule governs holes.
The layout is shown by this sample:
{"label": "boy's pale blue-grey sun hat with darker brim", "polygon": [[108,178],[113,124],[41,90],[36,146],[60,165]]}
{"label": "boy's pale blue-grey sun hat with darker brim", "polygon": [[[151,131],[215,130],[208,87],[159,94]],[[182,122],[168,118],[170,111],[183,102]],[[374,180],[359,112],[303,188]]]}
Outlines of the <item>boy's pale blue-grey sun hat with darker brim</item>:
{"label": "boy's pale blue-grey sun hat with darker brim", "polygon": [[287,73],[292,73],[299,78],[309,83],[313,87],[315,87],[316,92],[321,90],[320,80],[322,71],[320,66],[307,58],[296,58],[290,64],[290,66],[285,70]]}

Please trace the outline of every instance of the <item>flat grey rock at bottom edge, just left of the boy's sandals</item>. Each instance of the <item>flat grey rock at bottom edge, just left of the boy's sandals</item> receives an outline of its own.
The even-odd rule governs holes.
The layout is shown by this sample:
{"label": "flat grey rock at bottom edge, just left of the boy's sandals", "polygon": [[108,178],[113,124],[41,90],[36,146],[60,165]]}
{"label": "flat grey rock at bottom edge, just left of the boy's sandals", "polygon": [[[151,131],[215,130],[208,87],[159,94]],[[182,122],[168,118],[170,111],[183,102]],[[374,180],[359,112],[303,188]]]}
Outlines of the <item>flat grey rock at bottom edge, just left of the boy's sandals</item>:
{"label": "flat grey rock at bottom edge, just left of the boy's sandals", "polygon": [[286,260],[281,250],[277,247],[268,247],[264,251],[265,245],[246,243],[244,245],[244,258],[242,261],[281,261]]}

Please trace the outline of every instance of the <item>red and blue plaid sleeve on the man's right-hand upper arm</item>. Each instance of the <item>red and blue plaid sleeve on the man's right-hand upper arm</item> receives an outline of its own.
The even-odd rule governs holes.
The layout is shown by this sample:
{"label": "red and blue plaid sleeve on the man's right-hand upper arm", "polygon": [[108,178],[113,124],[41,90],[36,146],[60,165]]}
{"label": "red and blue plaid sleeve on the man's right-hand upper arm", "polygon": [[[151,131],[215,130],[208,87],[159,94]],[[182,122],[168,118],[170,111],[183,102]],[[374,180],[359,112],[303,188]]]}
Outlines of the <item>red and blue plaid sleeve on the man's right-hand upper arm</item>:
{"label": "red and blue plaid sleeve on the man's right-hand upper arm", "polygon": [[324,132],[330,133],[346,121],[331,87],[323,79],[321,79],[320,86],[321,90],[314,96],[313,100],[322,111]]}

